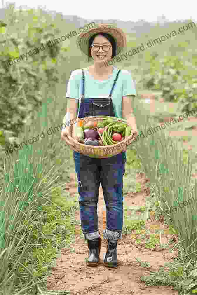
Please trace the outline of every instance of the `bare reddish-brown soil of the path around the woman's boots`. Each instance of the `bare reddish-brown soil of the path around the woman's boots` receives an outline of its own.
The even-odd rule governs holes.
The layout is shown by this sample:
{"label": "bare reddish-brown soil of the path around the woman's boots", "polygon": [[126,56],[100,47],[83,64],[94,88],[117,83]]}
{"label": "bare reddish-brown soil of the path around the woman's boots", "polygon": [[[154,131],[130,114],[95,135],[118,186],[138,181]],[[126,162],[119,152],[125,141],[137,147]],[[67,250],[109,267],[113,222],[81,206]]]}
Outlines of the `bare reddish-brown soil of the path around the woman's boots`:
{"label": "bare reddish-brown soil of the path around the woman's boots", "polygon": [[[152,104],[152,112],[154,112],[154,97],[150,95]],[[184,134],[185,135],[185,134]],[[68,188],[71,194],[77,193],[76,175],[73,173]],[[127,194],[124,204],[128,207],[132,205],[145,206],[146,196],[149,195],[149,189],[146,187],[147,178],[144,173],[136,175],[136,182],[141,183],[141,191],[139,193]],[[67,290],[73,294],[178,294],[171,286],[146,286],[140,281],[141,276],[149,276],[151,271],[159,270],[160,266],[168,261],[173,261],[173,257],[178,253],[170,253],[168,250],[160,250],[155,247],[153,250],[146,249],[143,245],[137,245],[135,242],[135,231],[129,235],[122,235],[122,240],[118,241],[118,267],[108,268],[103,264],[103,258],[106,253],[107,241],[103,239],[103,229],[106,226],[105,212],[103,206],[102,187],[99,191],[98,202],[98,227],[102,237],[100,264],[98,266],[86,266],[85,258],[88,257],[89,250],[87,242],[83,237],[79,237],[80,225],[76,225],[75,242],[69,249],[61,249],[61,257],[57,258],[56,267],[52,268],[51,276],[48,277],[48,291]],[[125,212],[125,211],[124,211]],[[128,211],[127,211],[128,212]],[[140,214],[140,212],[139,212]],[[146,221],[146,229],[151,233],[157,228],[165,229],[165,234],[160,236],[160,243],[165,244],[172,238],[167,231],[168,227],[163,224],[163,220],[155,221],[154,212],[151,214],[151,220]],[[104,217],[104,218],[103,218]],[[79,211],[75,213],[75,218],[79,221]],[[175,236],[174,236],[175,237]],[[170,248],[174,246],[171,244]],[[74,250],[73,250],[74,249]],[[142,267],[136,261],[138,258],[151,264],[150,267]],[[167,270],[167,268],[166,268]],[[95,286],[95,287],[94,287]],[[87,289],[85,289],[87,288]]]}

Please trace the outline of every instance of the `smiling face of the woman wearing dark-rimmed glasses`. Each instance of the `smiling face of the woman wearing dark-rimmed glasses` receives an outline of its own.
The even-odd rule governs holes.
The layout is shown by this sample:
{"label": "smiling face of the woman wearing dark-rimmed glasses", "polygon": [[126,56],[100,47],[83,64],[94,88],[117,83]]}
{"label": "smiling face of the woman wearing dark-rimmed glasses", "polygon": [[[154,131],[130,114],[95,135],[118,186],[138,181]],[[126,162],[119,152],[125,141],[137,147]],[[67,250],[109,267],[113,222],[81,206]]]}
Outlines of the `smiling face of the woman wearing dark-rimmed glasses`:
{"label": "smiling face of the woman wearing dark-rimmed glasses", "polygon": [[108,60],[111,59],[111,57],[112,57],[112,44],[108,39],[106,39],[102,35],[98,35],[93,40],[92,45],[95,45],[95,46],[96,45],[97,46],[102,46],[102,45],[111,46],[108,51],[105,51],[107,49],[107,46],[106,46],[106,49],[104,48],[104,50],[102,49],[102,47],[100,47],[99,51],[97,51],[97,52],[94,52],[93,51],[94,48],[93,48],[93,50],[91,48],[91,55],[92,55],[92,58],[93,58],[95,63],[103,63],[103,61],[108,61]]}

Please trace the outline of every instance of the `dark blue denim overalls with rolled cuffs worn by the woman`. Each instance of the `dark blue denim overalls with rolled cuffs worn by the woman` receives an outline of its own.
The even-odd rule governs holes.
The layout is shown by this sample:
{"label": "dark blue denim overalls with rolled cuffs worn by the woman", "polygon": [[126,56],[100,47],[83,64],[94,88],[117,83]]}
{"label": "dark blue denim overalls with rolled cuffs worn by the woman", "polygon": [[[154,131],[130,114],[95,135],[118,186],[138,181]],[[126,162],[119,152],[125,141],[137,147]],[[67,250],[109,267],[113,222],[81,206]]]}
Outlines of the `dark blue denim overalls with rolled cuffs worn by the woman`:
{"label": "dark blue denim overalls with rolled cuffs worn by the woman", "polygon": [[[82,70],[82,97],[79,118],[101,115],[115,117],[111,96],[120,71],[117,73],[109,97],[92,99],[84,97],[85,77]],[[100,237],[97,203],[101,183],[106,205],[104,238],[113,242],[117,241],[122,237],[123,175],[125,173],[126,153],[100,159],[91,158],[74,151],[73,158],[78,178],[80,219],[85,240]]]}

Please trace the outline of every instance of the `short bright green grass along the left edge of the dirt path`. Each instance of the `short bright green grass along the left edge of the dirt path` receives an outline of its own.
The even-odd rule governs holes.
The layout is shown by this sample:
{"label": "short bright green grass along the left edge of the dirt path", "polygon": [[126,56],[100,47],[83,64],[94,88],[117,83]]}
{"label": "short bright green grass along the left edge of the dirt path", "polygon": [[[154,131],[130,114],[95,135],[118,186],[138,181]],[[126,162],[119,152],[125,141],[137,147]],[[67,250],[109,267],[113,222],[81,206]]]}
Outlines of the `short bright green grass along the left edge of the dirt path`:
{"label": "short bright green grass along the left edge of the dirt path", "polygon": [[[30,239],[30,245],[32,245],[31,261],[24,261],[24,266],[28,268],[33,263],[33,273],[37,279],[42,279],[50,274],[51,266],[54,263],[56,264],[57,255],[60,255],[61,248],[69,248],[75,237],[75,224],[77,222],[74,218],[74,212],[78,209],[77,199],[65,195],[58,200],[52,200],[61,210],[55,205],[43,206],[43,210],[38,216],[42,222],[28,226],[28,230],[32,230]],[[24,270],[23,268],[23,266],[19,267],[19,274]],[[16,292],[22,286],[18,285],[17,287]],[[44,285],[40,288],[46,291]]]}

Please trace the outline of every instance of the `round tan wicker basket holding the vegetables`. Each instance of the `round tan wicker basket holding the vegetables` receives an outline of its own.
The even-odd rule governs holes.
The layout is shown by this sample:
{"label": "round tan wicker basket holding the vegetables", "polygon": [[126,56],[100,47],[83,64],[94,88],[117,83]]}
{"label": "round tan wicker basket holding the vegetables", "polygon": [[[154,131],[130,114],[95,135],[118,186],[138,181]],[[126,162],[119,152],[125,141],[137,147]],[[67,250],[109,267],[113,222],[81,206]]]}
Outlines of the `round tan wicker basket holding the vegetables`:
{"label": "round tan wicker basket holding the vegetables", "polygon": [[[99,121],[102,119],[115,119],[116,121],[126,123],[127,126],[129,125],[124,119],[116,118],[116,117],[109,117],[109,116],[90,116],[82,118],[84,123],[91,121]],[[114,145],[105,145],[105,146],[94,146],[94,145],[84,145],[83,143],[78,142],[77,140],[73,139],[71,136],[66,136],[66,144],[70,146],[72,150],[75,152],[81,153],[83,155],[92,157],[92,158],[110,158],[115,155],[118,155],[123,150],[126,149],[126,146],[130,145],[134,138],[134,133],[127,137],[127,139],[118,142]]]}

